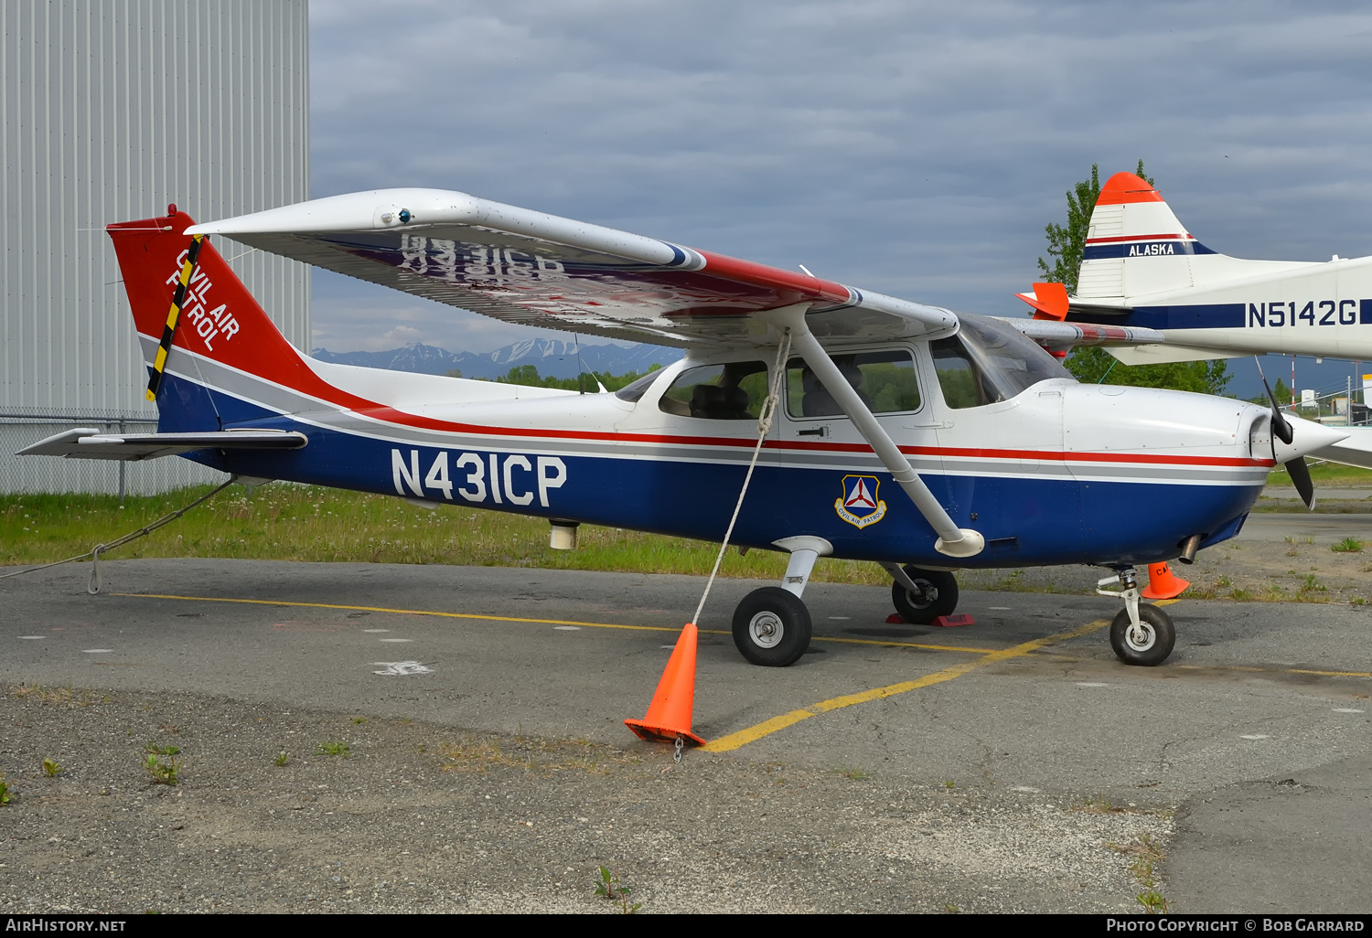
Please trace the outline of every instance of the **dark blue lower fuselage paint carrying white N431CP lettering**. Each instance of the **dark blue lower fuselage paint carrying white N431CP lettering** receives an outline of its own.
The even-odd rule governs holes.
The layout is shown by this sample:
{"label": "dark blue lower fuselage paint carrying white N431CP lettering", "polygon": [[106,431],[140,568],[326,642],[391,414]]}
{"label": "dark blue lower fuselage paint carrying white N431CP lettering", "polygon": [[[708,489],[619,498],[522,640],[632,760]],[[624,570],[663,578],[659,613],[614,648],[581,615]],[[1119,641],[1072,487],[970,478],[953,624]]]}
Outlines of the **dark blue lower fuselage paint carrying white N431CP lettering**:
{"label": "dark blue lower fuselage paint carrying white N431CP lettering", "polygon": [[[167,378],[163,394],[192,407],[213,405],[200,414],[210,413],[213,421],[213,413],[218,413],[225,429],[251,425],[299,431],[309,437],[309,446],[294,451],[200,451],[187,457],[243,476],[718,542],[746,470],[737,454],[729,454],[727,462],[691,462],[671,458],[671,446],[663,447],[663,458],[650,458],[579,454],[573,442],[556,457],[549,457],[542,447],[536,453],[521,453],[517,437],[491,437],[480,447],[409,444],[324,428],[209,391],[178,376]],[[163,407],[163,414],[172,410],[174,407]],[[209,428],[203,420],[199,424],[195,429]],[[173,425],[159,429],[166,432]],[[387,429],[403,437],[403,426]],[[546,440],[541,443],[546,447]],[[440,454],[445,455],[440,458]],[[879,521],[859,528],[844,521],[836,510],[836,502],[842,505],[849,490],[844,477],[855,470],[768,464],[775,458],[768,453],[756,469],[734,543],[767,547],[782,538],[812,535],[833,543],[834,555],[841,558],[901,560],[934,566],[948,566],[952,561],[933,550],[934,531],[889,473],[867,473],[877,483],[875,499],[884,502],[886,510]],[[442,473],[436,469],[440,462]],[[1032,472],[956,474],[955,466],[947,473],[929,473],[923,479],[959,527],[981,532],[988,542],[982,554],[952,561],[966,568],[1144,564],[1172,558],[1177,544],[1192,533],[1233,528],[1235,520],[1247,513],[1261,491],[1259,485],[1238,484],[1076,481],[1036,477]],[[545,484],[541,491],[541,474],[545,483],[561,481]],[[403,491],[397,491],[398,485]],[[499,502],[493,491],[497,485]],[[512,496],[528,503],[514,505]],[[542,498],[546,505],[541,503]]]}

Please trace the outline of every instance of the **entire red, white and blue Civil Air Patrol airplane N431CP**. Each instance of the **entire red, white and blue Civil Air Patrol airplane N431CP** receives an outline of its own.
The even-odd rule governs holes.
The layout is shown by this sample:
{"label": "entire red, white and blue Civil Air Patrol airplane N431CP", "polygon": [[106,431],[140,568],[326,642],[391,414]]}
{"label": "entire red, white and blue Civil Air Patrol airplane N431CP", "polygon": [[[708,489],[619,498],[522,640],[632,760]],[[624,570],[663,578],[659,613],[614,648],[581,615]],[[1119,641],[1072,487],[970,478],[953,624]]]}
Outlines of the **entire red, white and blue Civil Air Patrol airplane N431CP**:
{"label": "entire red, white and blue Civil Air Patrol airplane N431CP", "polygon": [[[1115,653],[1158,664],[1174,629],[1139,602],[1135,566],[1232,538],[1275,462],[1303,465],[1343,436],[1239,400],[1081,385],[1037,344],[1166,341],[1151,326],[1011,325],[461,192],[359,192],[204,225],[172,207],[108,233],[159,432],[73,429],[26,453],[181,454],[546,517],[554,542],[580,522],[719,542],[779,387],[734,536],[790,554],[782,584],[734,613],[740,651],[761,665],[804,653],[801,597],[823,555],[885,566],[911,623],[955,609],[959,568],[1106,566],[1124,587]],[[318,362],[277,332],[214,234],[686,357],[584,395]]]}

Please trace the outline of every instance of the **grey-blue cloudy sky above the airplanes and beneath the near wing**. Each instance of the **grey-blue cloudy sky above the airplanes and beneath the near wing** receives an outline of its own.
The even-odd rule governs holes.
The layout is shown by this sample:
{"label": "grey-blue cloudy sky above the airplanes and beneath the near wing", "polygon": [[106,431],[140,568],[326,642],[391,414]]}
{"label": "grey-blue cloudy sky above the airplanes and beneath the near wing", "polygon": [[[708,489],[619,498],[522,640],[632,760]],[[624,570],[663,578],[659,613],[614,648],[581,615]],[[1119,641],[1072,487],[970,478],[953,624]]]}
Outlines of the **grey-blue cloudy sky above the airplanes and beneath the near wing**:
{"label": "grey-blue cloudy sky above the airplanes and beneath the near wing", "polygon": [[[1372,254],[1357,3],[313,0],[314,196],[461,189],[1018,314],[1092,163],[1207,245]],[[534,335],[317,274],[316,344]]]}

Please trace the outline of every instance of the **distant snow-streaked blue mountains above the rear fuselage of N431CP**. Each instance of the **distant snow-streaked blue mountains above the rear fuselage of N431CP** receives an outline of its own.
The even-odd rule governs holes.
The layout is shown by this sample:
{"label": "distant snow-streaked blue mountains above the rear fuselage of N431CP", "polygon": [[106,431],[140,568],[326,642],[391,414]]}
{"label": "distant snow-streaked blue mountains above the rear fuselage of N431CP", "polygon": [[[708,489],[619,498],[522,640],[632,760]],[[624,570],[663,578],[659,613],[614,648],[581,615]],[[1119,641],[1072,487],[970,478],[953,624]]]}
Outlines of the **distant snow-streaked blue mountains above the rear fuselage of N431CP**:
{"label": "distant snow-streaked blue mountains above the rear fuselage of N431CP", "polygon": [[576,347],[561,339],[525,339],[491,352],[453,354],[438,346],[414,343],[403,348],[379,352],[331,352],[316,348],[310,352],[321,362],[339,365],[361,365],[364,368],[386,368],[392,372],[417,372],[420,374],[446,374],[460,370],[462,377],[497,378],[512,368],[534,365],[543,377],[576,377],[579,370],[598,374],[627,374],[646,372],[650,365],[670,365],[682,357],[678,348],[661,346],[580,346],[582,365],[578,368]]}

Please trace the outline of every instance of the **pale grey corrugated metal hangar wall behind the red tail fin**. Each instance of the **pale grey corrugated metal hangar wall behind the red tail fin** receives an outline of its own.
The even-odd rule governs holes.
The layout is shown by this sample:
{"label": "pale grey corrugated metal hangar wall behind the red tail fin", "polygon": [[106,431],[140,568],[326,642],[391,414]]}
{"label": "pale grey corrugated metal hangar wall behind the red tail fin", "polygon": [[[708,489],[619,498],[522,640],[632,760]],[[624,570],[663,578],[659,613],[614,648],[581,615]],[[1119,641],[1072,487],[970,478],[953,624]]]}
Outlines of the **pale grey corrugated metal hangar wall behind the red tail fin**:
{"label": "pale grey corrugated metal hangar wall behind the red tail fin", "polygon": [[[178,458],[121,470],[12,454],[74,425],[156,420],[106,224],[309,197],[309,3],[3,0],[0,27],[0,492],[220,479]],[[261,251],[232,266],[307,350],[307,267]]]}

